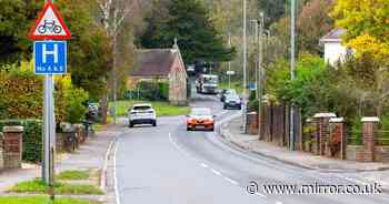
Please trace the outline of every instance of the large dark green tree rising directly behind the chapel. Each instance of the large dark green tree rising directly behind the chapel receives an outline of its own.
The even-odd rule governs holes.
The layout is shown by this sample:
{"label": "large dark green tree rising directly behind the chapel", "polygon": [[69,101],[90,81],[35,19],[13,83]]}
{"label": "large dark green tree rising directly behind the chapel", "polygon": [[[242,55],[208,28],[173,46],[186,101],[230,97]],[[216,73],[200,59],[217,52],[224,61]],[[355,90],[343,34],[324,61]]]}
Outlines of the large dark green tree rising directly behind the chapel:
{"label": "large dark green tree rising directly behind the chapel", "polygon": [[161,19],[161,13],[156,12],[147,19],[149,26],[140,38],[142,47],[171,48],[177,38],[186,63],[196,60],[220,62],[232,58],[233,49],[226,48],[200,1],[171,0],[167,9],[167,18]]}

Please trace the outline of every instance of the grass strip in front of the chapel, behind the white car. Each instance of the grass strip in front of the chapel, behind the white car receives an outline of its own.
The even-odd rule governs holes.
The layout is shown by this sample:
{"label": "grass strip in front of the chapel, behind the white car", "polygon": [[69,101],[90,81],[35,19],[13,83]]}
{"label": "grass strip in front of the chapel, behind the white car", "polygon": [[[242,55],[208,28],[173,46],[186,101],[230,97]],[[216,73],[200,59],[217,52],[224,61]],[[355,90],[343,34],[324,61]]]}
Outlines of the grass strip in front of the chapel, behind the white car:
{"label": "grass strip in front of the chapel, behind the white car", "polygon": [[[169,104],[168,102],[161,101],[118,101],[117,102],[117,112],[120,116],[126,116],[128,114],[128,110],[137,103],[151,103],[152,106],[157,111],[158,116],[176,116],[176,115],[186,115],[190,113],[189,106],[174,106]],[[113,105],[112,102],[109,103],[111,108]]]}

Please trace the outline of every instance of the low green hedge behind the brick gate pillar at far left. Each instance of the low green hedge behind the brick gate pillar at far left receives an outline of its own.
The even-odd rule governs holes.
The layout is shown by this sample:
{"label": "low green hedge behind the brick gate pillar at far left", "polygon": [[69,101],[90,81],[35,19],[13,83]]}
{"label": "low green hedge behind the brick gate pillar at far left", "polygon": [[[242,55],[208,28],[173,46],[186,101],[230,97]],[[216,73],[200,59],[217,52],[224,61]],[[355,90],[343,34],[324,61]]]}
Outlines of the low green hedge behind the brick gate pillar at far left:
{"label": "low green hedge behind the brick gate pillar at far left", "polygon": [[7,125],[21,125],[23,132],[22,160],[39,163],[42,161],[42,121],[40,120],[2,120],[0,130]]}

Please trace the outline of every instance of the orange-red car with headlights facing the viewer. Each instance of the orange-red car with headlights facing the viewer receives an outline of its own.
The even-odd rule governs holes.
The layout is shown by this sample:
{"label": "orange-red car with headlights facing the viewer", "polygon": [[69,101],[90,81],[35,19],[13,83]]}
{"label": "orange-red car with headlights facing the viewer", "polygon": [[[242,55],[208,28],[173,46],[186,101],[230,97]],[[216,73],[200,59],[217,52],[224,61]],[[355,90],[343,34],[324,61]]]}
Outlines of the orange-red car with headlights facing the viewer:
{"label": "orange-red car with headlights facing the viewer", "polygon": [[187,131],[192,130],[215,130],[215,115],[208,108],[194,108],[190,115],[187,115]]}

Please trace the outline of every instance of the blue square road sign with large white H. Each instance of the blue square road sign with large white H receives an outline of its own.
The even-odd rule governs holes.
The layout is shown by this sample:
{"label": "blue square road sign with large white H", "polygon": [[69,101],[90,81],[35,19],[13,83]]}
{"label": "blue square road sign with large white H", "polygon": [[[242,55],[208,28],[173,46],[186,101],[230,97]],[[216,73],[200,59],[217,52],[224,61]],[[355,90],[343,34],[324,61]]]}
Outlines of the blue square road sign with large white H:
{"label": "blue square road sign with large white H", "polygon": [[67,72],[66,41],[36,41],[33,57],[36,74],[64,74]]}

